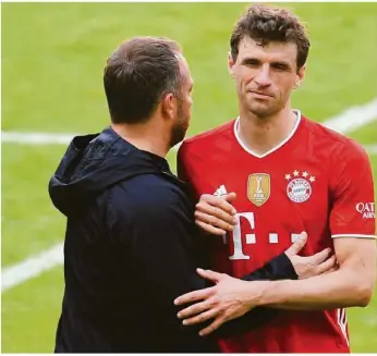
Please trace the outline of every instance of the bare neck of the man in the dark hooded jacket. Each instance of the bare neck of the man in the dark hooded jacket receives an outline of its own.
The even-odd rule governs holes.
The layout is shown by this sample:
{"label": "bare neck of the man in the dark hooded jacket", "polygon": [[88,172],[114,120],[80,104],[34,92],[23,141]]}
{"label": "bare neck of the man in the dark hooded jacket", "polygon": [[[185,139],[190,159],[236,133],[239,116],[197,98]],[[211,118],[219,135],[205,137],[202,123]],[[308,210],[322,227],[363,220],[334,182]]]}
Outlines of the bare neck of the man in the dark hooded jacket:
{"label": "bare neck of the man in the dark hooded jacket", "polygon": [[169,137],[157,120],[143,124],[111,124],[112,130],[123,139],[141,150],[166,158],[169,151]]}

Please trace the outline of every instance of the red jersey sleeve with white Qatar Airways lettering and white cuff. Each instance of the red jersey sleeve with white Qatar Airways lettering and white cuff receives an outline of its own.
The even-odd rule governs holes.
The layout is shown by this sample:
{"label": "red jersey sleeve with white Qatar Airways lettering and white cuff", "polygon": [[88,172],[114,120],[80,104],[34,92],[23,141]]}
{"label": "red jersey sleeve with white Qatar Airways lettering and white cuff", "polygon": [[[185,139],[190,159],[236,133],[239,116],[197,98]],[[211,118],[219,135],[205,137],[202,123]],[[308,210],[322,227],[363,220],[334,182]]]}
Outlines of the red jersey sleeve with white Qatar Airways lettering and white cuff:
{"label": "red jersey sleeve with white Qatar Airways lettering and white cuff", "polygon": [[333,157],[331,171],[331,236],[375,238],[374,182],[366,151],[352,143]]}

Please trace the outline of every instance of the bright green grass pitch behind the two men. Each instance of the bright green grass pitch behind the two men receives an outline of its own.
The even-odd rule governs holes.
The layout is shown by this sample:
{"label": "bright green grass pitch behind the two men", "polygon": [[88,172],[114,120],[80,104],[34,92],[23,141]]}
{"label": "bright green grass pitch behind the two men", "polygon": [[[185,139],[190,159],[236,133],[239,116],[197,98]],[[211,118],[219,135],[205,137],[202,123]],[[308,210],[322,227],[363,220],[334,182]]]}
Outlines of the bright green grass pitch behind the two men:
{"label": "bright green grass pitch behind the two men", "polygon": [[[2,3],[2,131],[100,131],[109,120],[101,83],[106,59],[135,35],[163,35],[182,44],[195,79],[190,135],[234,118],[227,51],[245,5]],[[284,5],[308,25],[313,45],[294,107],[324,121],[375,99],[377,3]],[[376,144],[377,123],[350,135]],[[2,268],[63,240],[65,222],[49,201],[47,183],[64,150],[2,144]],[[169,159],[174,168],[174,154]],[[370,160],[377,179],[377,156]],[[62,291],[60,266],[2,294],[3,353],[53,349]],[[352,351],[377,352],[377,294],[367,308],[349,310],[349,319]]]}

